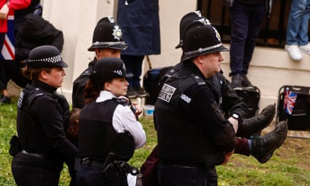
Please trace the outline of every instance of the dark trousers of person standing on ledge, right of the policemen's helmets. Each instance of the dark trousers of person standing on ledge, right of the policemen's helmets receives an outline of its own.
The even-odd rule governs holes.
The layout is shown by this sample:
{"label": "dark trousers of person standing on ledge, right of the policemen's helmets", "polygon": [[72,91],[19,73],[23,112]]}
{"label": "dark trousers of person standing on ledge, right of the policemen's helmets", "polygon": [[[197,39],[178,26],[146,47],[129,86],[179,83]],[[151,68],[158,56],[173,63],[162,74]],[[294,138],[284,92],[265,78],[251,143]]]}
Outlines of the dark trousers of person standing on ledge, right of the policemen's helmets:
{"label": "dark trousers of person standing on ledge, right of the policemen's helmets", "polygon": [[231,7],[230,75],[247,74],[264,17],[265,4],[235,1]]}

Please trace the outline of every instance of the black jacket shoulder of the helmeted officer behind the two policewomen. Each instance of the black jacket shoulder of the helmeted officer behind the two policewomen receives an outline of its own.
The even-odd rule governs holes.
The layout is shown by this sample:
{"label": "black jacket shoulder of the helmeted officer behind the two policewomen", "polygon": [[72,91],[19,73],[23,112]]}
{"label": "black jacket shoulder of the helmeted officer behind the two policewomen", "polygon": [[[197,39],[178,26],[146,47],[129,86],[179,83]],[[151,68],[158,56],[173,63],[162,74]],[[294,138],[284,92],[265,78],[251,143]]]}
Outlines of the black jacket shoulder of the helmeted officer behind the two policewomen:
{"label": "black jacket shoulder of the helmeted officer behind the two policewomen", "polygon": [[93,72],[95,66],[96,58],[93,61],[88,63],[88,67],[82,72],[77,79],[73,82],[72,88],[72,107],[82,109],[85,104],[84,100],[84,88],[88,80],[88,76]]}

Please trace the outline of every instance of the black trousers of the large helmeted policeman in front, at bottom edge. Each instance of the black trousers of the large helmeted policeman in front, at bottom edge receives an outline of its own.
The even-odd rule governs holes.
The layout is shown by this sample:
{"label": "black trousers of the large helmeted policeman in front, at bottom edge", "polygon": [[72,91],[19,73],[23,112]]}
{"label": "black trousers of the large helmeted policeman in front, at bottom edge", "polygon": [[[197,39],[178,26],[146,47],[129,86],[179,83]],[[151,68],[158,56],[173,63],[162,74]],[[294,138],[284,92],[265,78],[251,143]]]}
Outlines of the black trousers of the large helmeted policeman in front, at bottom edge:
{"label": "black trousers of the large helmeted policeman in front, at bottom edge", "polygon": [[213,186],[217,185],[215,166],[209,169],[173,166],[160,162],[157,169],[160,186]]}

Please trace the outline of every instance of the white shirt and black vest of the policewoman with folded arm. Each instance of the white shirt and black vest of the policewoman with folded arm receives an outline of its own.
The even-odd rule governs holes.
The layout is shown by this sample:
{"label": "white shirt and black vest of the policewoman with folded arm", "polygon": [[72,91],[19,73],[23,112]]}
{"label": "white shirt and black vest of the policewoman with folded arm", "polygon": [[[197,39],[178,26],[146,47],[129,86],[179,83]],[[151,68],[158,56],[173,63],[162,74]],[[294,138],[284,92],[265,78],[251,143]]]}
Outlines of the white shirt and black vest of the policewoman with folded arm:
{"label": "white shirt and black vest of the policewoman with folded arm", "polygon": [[130,107],[109,91],[101,91],[85,104],[79,116],[79,157],[104,162],[109,152],[116,160],[130,160],[135,148],[146,142],[146,134]]}

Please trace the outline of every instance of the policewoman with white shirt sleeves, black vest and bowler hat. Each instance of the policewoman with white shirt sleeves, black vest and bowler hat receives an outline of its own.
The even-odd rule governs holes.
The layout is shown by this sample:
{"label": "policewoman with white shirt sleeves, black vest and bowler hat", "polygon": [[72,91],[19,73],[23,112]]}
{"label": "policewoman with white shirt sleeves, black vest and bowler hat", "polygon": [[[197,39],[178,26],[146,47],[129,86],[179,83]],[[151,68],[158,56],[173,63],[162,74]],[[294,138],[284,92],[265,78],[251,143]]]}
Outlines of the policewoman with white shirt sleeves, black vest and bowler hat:
{"label": "policewoman with white shirt sleeves, black vest and bowler hat", "polygon": [[77,185],[127,185],[127,173],[133,173],[127,161],[146,134],[124,97],[131,76],[121,59],[95,63],[79,116]]}

